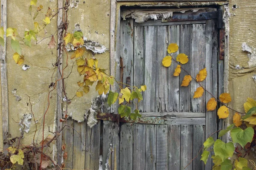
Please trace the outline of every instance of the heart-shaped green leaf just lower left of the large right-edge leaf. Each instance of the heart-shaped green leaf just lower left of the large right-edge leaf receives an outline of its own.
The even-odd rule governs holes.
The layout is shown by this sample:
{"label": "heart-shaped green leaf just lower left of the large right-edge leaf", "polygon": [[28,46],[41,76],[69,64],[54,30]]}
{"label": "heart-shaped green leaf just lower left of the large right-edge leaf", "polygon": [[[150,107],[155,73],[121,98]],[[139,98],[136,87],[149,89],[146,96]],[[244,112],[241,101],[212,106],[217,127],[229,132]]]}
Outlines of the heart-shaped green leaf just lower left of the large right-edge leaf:
{"label": "heart-shaped green leaf just lower left of the large right-edge leaf", "polygon": [[233,156],[235,147],[233,142],[224,143],[221,139],[217,139],[214,143],[213,150],[215,156],[221,157],[222,161]]}

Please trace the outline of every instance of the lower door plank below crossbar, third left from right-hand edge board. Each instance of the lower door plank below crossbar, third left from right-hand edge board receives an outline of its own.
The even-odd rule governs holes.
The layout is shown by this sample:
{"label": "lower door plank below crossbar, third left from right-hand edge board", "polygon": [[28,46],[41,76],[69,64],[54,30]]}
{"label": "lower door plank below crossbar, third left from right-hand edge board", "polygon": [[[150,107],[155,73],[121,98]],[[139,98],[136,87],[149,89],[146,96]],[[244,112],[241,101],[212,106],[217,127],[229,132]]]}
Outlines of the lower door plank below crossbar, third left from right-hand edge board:
{"label": "lower door plank below crossbar, third left from right-hand edge board", "polygon": [[180,170],[180,125],[168,125],[169,170]]}

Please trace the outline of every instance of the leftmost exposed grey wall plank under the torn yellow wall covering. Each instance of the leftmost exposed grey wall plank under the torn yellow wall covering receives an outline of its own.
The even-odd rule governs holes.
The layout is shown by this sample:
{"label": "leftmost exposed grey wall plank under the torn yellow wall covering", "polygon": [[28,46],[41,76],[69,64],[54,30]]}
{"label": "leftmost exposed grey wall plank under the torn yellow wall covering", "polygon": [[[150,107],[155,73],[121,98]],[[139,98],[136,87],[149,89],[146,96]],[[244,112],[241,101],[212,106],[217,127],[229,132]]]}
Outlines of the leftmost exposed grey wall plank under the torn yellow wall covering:
{"label": "leftmost exposed grey wall plank under the torn yellow wall covering", "polygon": [[73,169],[73,135],[74,135],[74,120],[67,119],[66,125],[62,130],[63,144],[65,144],[64,153],[67,153],[67,159],[64,159],[65,168]]}

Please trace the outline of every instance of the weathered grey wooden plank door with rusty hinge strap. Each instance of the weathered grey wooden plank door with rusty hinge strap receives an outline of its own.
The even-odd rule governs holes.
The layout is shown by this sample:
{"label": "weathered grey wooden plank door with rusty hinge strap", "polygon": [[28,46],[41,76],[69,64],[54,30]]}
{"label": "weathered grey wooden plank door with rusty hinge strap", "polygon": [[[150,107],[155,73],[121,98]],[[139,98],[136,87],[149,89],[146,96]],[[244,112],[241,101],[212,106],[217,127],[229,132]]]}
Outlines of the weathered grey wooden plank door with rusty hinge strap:
{"label": "weathered grey wooden plank door with rusty hinge strap", "polygon": [[[212,96],[204,93],[193,99],[198,83],[192,81],[188,87],[180,87],[187,73],[182,70],[179,77],[173,77],[177,64],[172,62],[165,68],[162,59],[169,55],[167,46],[177,43],[179,50],[171,56],[188,55],[189,62],[182,67],[192,77],[207,68],[207,78],[201,85],[216,97],[221,90],[217,86],[217,37],[215,19],[121,20],[120,81],[145,84],[147,91],[138,105],[143,118],[136,124],[120,123],[119,170],[182,170],[188,164],[187,170],[212,168],[210,161],[206,166],[200,161],[202,151],[198,154],[205,139],[218,129],[216,110],[206,112],[206,102]],[[216,134],[213,137],[216,139]]]}

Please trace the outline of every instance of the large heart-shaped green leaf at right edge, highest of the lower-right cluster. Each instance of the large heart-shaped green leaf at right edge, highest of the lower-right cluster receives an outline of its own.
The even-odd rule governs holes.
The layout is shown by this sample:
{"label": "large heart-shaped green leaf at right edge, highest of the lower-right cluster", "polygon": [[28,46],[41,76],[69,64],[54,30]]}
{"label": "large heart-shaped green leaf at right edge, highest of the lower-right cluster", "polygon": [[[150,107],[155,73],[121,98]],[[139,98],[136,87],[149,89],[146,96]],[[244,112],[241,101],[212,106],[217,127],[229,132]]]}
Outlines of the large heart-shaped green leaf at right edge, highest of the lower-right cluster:
{"label": "large heart-shaped green leaf at right edge, highest of the lower-right cluster", "polygon": [[236,127],[230,131],[230,135],[234,143],[239,143],[244,147],[248,142],[252,142],[254,130],[252,127],[247,127],[245,130]]}

